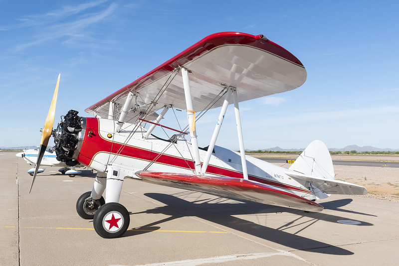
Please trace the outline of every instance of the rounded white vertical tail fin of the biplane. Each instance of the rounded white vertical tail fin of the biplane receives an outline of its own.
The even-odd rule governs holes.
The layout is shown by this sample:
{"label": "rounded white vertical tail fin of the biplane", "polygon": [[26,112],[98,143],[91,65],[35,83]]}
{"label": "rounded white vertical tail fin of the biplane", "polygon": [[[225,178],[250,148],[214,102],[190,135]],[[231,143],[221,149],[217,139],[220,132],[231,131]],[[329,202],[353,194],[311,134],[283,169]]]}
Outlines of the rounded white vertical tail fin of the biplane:
{"label": "rounded white vertical tail fin of the biplane", "polygon": [[289,169],[308,176],[335,179],[333,160],[321,140],[312,141]]}

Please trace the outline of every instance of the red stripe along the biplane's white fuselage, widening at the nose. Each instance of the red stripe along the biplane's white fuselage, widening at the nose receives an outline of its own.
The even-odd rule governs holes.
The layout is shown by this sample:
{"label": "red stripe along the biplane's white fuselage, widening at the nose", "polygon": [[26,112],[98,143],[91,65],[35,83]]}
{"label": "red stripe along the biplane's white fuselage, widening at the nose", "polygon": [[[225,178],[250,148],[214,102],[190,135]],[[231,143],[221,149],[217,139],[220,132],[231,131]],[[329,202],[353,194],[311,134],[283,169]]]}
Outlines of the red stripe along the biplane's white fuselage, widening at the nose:
{"label": "red stripe along the biplane's white fuselage, widening at the nose", "polygon": [[[83,139],[82,147],[80,149],[79,156],[77,158],[77,160],[84,165],[90,166],[93,159],[95,159],[96,154],[100,152],[106,152],[115,155],[117,154],[130,158],[146,160],[148,162],[151,162],[158,157],[156,163],[171,165],[184,169],[194,169],[193,160],[185,159],[182,157],[176,157],[168,154],[161,154],[159,152],[154,152],[152,150],[126,145],[123,143],[112,142],[111,140],[103,138],[98,132],[98,129],[99,129],[99,120],[97,118],[86,119],[86,132]],[[100,162],[100,163],[106,164],[108,162]],[[217,167],[214,165],[208,165],[206,173],[227,176],[227,177],[243,178],[242,172],[222,167]],[[253,175],[248,175],[248,179],[283,189],[310,193],[308,190],[305,189],[290,186],[284,183],[275,182],[272,180],[263,179],[261,177]]]}

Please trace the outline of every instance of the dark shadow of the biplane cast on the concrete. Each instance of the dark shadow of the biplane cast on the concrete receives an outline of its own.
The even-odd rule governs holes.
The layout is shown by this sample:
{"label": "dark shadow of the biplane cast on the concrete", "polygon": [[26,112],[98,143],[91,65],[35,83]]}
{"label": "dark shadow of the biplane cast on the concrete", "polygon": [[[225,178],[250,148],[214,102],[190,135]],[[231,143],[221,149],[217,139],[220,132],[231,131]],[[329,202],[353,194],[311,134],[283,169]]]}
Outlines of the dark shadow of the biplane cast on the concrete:
{"label": "dark shadow of the biplane cast on the concrete", "polygon": [[[231,203],[223,203],[217,202],[214,203],[215,199],[206,199],[206,200],[198,200],[198,201],[187,201],[180,197],[186,193],[197,193],[193,191],[176,193],[173,195],[168,194],[160,194],[160,193],[146,193],[145,196],[155,199],[159,202],[166,204],[163,207],[157,207],[151,210],[139,212],[139,213],[162,213],[168,215],[169,217],[162,219],[160,221],[155,221],[153,223],[141,226],[139,228],[134,228],[133,230],[129,230],[125,233],[124,237],[129,237],[138,234],[144,234],[152,231],[156,231],[161,229],[161,227],[157,226],[164,222],[171,221],[174,219],[195,216],[201,219],[210,221],[212,223],[220,224],[222,226],[227,226],[233,230],[237,230],[255,237],[259,237],[286,247],[289,247],[293,250],[302,250],[307,252],[315,252],[322,254],[330,254],[330,255],[353,255],[354,253],[342,249],[340,247],[336,247],[334,245],[323,243],[317,240],[312,240],[303,236],[297,235],[299,232],[305,230],[308,227],[311,227],[317,221],[323,220],[327,222],[337,223],[339,220],[351,220],[349,218],[345,218],[342,216],[325,214],[323,212],[318,213],[305,213],[300,210],[294,210],[289,208],[265,205],[254,202],[237,202],[235,204]],[[192,199],[192,197],[190,198]],[[223,199],[223,198],[219,198]],[[227,200],[227,199],[226,199]],[[344,205],[347,205],[351,202],[351,199],[344,200],[335,200],[326,202],[323,204],[326,209],[337,210],[343,212],[351,212],[347,210],[339,209]],[[269,228],[267,226],[262,226],[256,224],[251,221],[243,220],[234,215],[245,215],[245,214],[255,214],[255,215],[264,215],[268,213],[292,213],[298,216],[297,219],[282,225],[281,227],[274,229]],[[351,212],[355,214],[362,214],[357,212]],[[134,215],[134,213],[131,213]],[[138,214],[138,213],[137,213]],[[364,214],[369,215],[369,214]],[[299,220],[302,218],[313,218],[311,220],[295,224],[300,222]],[[354,226],[372,226],[373,224],[360,221],[361,224]],[[352,225],[351,225],[352,226]],[[295,233],[287,233],[283,230],[298,228],[298,231]]]}

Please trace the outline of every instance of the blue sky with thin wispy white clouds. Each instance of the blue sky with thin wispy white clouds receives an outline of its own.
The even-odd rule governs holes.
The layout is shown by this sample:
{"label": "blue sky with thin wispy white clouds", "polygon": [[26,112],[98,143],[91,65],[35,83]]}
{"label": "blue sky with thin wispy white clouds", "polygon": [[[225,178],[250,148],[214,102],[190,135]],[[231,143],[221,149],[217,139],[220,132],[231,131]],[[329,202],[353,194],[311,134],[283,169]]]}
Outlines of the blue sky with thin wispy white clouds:
{"label": "blue sky with thin wispy white clouds", "polygon": [[[55,124],[70,109],[89,116],[203,37],[239,31],[264,34],[308,73],[296,90],[240,104],[245,148],[399,149],[398,10],[394,0],[0,0],[0,146],[39,144],[58,73]],[[199,121],[200,145],[217,114]],[[216,144],[238,149],[231,107]]]}

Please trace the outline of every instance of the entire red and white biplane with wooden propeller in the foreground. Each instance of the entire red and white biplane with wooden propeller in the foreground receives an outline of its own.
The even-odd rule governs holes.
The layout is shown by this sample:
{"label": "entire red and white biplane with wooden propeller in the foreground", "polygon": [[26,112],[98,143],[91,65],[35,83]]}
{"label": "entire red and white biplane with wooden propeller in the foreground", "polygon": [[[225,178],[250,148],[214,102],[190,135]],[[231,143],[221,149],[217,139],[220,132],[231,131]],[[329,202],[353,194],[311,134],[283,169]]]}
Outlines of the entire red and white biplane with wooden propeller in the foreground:
{"label": "entire red and white biplane with wooden propeller in the foreground", "polygon": [[[294,55],[263,35],[215,33],[87,108],[94,118],[70,110],[52,134],[58,76],[30,189],[52,134],[59,161],[98,171],[76,210],[93,219],[103,238],[120,237],[129,227],[129,212],[118,203],[124,178],[304,211],[322,211],[315,201],[330,194],[367,194],[362,186],[335,180],[330,153],[319,140],[289,169],[244,154],[238,103],[296,89],[306,75]],[[215,145],[229,104],[240,153]],[[176,108],[186,110],[188,126],[161,125]],[[220,114],[209,145],[200,148],[196,121],[212,108],[220,108]],[[166,137],[153,135],[155,127]]]}

